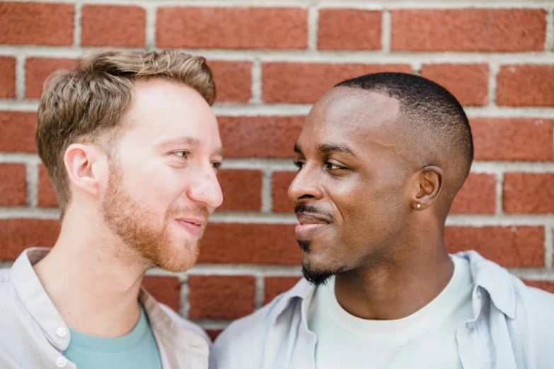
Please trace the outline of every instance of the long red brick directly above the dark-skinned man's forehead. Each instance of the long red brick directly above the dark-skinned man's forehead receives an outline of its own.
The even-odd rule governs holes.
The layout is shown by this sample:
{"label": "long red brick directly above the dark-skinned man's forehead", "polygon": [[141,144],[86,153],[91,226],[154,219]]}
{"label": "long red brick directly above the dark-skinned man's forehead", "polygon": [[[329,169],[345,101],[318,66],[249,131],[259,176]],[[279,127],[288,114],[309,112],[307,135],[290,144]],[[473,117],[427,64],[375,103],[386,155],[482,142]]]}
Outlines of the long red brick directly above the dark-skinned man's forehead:
{"label": "long red brick directly above the dark-skinned man's forehead", "polygon": [[262,98],[266,102],[311,104],[345,79],[383,71],[412,73],[412,67],[408,64],[267,62],[262,64]]}

